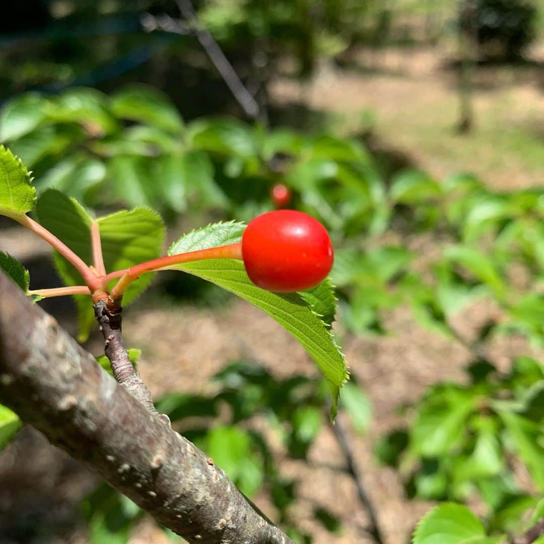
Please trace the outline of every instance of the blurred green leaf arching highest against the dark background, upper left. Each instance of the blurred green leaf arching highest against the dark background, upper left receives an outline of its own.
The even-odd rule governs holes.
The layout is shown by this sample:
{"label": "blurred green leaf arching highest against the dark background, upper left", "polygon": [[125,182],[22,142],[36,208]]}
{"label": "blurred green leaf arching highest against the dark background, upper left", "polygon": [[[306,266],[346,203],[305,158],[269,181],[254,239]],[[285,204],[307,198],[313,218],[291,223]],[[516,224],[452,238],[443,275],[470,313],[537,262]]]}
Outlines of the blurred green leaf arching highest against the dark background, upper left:
{"label": "blurred green leaf arching highest against the dark background, upper left", "polygon": [[111,108],[120,119],[130,119],[178,134],[183,121],[163,92],[150,85],[131,85],[112,97]]}

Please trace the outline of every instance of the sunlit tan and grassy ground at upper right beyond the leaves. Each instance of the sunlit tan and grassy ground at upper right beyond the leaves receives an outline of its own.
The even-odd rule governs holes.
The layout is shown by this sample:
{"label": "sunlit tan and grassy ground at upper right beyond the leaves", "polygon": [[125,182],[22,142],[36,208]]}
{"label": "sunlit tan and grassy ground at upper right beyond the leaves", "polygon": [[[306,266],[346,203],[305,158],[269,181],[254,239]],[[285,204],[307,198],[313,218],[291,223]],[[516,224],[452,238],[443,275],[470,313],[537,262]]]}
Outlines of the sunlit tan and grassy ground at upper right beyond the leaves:
{"label": "sunlit tan and grassy ground at upper right beyond the leaves", "polygon": [[483,66],[474,72],[475,127],[455,131],[459,117],[458,78],[446,46],[360,51],[351,69],[323,65],[311,81],[279,79],[275,103],[301,103],[336,114],[339,132],[357,133],[368,113],[375,135],[407,153],[438,178],[460,169],[500,189],[544,183],[542,47],[530,66]]}

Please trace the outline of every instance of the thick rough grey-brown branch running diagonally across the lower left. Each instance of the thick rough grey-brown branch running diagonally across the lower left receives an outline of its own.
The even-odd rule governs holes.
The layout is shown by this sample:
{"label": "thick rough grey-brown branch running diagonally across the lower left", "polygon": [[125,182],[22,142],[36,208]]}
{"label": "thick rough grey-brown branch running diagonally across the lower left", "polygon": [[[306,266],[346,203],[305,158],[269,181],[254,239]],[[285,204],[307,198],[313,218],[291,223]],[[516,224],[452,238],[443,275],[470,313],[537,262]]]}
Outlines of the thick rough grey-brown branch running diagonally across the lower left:
{"label": "thick rough grey-brown branch running diagonally across the lower left", "polygon": [[189,542],[292,543],[2,273],[0,403]]}

